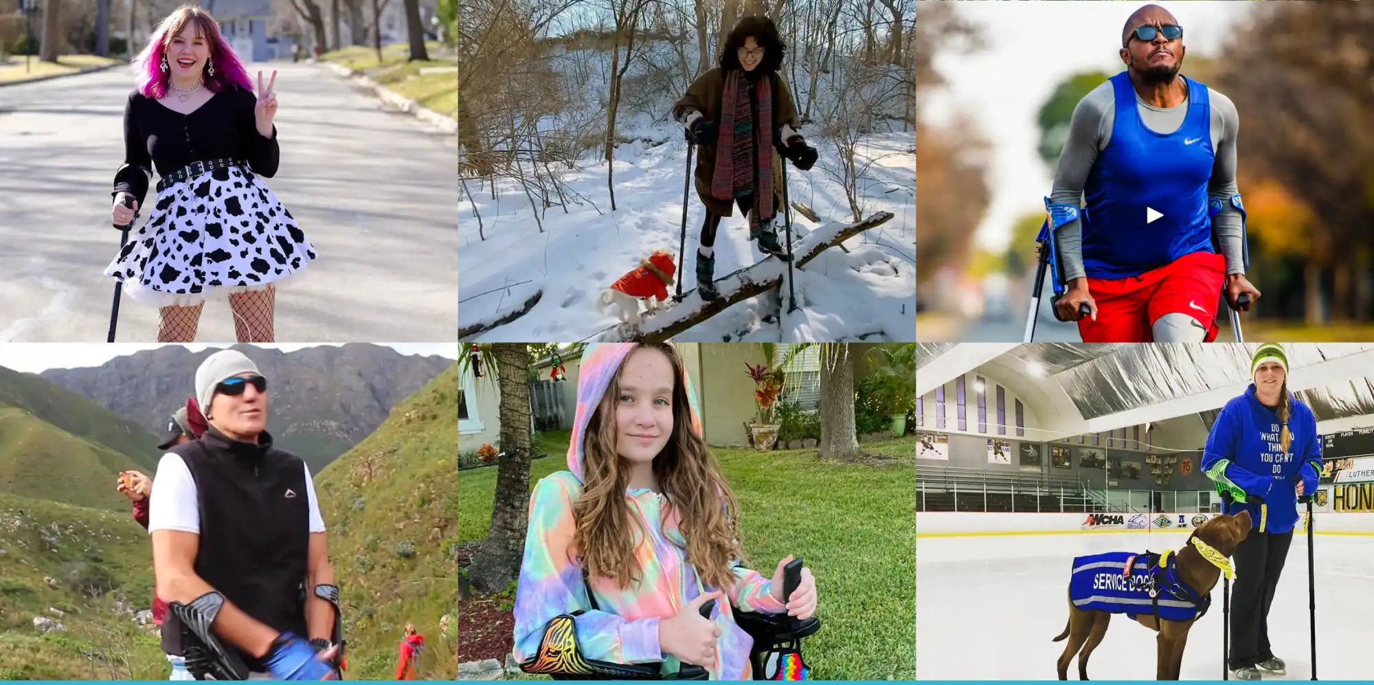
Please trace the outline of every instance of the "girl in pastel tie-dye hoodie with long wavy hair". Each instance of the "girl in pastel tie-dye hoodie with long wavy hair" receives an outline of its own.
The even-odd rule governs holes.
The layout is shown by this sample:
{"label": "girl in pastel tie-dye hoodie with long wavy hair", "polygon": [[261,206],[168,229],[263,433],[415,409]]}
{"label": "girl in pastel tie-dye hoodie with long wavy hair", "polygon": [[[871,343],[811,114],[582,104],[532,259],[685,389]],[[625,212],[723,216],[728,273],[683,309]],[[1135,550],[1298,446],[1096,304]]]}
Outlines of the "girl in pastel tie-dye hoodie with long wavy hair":
{"label": "girl in pastel tie-dye hoodie with long wavy hair", "polygon": [[[517,662],[661,662],[664,675],[686,662],[712,678],[749,679],[753,641],[730,607],[800,619],[815,611],[809,569],[782,601],[782,568],[793,557],[771,580],[741,564],[738,505],[701,437],[697,399],[671,345],[587,348],[567,469],[541,479],[530,498]],[[698,613],[702,604],[714,605],[710,620]],[[569,635],[556,635],[569,620],[577,653]]]}

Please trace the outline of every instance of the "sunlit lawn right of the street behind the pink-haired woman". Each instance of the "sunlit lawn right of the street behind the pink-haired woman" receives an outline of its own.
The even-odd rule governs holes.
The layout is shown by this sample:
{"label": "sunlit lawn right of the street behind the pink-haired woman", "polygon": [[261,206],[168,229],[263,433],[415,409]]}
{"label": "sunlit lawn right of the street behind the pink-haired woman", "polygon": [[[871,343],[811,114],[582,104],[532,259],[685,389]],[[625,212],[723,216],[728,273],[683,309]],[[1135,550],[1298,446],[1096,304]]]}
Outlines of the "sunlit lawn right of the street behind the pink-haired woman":
{"label": "sunlit lawn right of the street behind the pink-haired woman", "polygon": [[458,118],[458,55],[447,54],[438,43],[426,43],[425,48],[429,61],[407,62],[409,47],[403,43],[382,47],[381,62],[376,51],[361,45],[326,52],[320,59],[363,72],[398,95]]}

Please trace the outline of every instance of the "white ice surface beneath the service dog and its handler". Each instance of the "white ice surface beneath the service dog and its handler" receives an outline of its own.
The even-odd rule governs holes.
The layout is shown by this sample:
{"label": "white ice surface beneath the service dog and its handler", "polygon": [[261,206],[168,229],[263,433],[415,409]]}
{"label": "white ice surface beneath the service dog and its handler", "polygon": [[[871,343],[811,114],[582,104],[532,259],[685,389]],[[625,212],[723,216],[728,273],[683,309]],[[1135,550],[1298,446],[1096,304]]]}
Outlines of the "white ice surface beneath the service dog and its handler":
{"label": "white ice surface beneath the service dog and its handler", "polygon": [[[1323,535],[1316,517],[1316,659],[1320,679],[1374,675],[1374,536]],[[1055,679],[1069,618],[1073,557],[1102,552],[1178,550],[1189,531],[984,535],[916,539],[916,679]],[[1270,609],[1274,655],[1287,675],[1309,679],[1307,534],[1293,534]],[[1238,568],[1237,574],[1243,574]],[[1234,586],[1232,586],[1234,587]],[[1221,583],[1189,634],[1182,679],[1220,679]],[[1154,679],[1156,633],[1113,616],[1088,659],[1092,679]],[[1077,657],[1069,678],[1077,679]],[[1234,678],[1232,678],[1234,679]]]}

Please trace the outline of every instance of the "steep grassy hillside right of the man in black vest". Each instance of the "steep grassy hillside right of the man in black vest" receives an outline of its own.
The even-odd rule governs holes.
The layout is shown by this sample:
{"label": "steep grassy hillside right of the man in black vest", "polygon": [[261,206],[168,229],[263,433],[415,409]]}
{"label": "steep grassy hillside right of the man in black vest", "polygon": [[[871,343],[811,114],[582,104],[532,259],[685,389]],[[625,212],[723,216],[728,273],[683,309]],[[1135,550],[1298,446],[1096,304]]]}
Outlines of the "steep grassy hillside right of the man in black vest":
{"label": "steep grassy hillside right of the man in black vest", "polygon": [[[425,635],[422,679],[458,673],[456,469],[455,365],[316,477],[344,594],[346,678],[393,678],[405,623]],[[448,635],[444,615],[455,615]]]}

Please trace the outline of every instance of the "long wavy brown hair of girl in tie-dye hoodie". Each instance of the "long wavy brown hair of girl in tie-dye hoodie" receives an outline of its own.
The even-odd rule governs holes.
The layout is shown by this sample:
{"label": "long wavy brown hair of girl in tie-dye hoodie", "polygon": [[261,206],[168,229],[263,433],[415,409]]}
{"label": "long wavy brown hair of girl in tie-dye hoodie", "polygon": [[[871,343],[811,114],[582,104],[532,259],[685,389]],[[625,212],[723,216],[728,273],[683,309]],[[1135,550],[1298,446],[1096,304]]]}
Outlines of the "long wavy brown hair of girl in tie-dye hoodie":
{"label": "long wavy brown hair of girl in tie-dye hoodie", "polygon": [[[635,349],[642,348],[662,352],[673,367],[673,432],[654,457],[654,475],[668,506],[677,512],[687,561],[706,585],[725,587],[731,582],[731,561],[741,557],[739,503],[720,473],[720,462],[692,431],[682,358],[666,344],[640,344]],[[624,370],[622,362],[589,420],[583,442],[584,491],[573,502],[573,519],[578,556],[588,574],[613,578],[628,587],[632,580],[643,579],[635,546],[649,531],[625,499],[631,464],[616,451],[616,400]]]}

